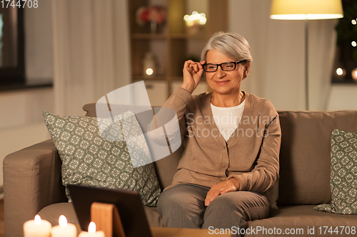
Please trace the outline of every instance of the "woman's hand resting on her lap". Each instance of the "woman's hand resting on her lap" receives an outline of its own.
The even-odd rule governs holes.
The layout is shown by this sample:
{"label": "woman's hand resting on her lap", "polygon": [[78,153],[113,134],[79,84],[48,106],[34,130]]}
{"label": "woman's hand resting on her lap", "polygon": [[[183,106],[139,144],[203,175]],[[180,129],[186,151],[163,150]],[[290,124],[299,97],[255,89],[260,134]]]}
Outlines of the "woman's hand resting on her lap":
{"label": "woman's hand resting on her lap", "polygon": [[239,189],[238,179],[231,178],[218,184],[214,184],[208,191],[204,204],[208,206],[211,202],[221,194],[226,194],[230,191],[237,191]]}

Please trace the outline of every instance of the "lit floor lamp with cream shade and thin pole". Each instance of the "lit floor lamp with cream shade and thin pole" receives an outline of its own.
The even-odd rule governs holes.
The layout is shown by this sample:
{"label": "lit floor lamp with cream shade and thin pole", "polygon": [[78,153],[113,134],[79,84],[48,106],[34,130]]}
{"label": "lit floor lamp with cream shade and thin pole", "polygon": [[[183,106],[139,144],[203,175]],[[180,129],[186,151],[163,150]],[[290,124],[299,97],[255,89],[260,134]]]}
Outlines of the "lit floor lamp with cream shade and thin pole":
{"label": "lit floor lamp with cream shade and thin pole", "polygon": [[308,20],[343,17],[341,0],[273,0],[271,19],[305,21],[305,103],[308,110]]}

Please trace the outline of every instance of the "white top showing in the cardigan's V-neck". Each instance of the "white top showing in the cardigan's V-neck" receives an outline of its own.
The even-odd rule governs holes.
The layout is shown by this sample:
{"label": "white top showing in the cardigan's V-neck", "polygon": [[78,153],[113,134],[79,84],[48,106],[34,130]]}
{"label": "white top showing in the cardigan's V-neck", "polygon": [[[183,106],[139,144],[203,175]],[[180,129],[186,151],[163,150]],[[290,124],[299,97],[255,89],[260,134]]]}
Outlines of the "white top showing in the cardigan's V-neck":
{"label": "white top showing in the cardigan's V-neck", "polygon": [[214,122],[216,122],[219,132],[221,132],[226,141],[228,141],[238,127],[239,122],[241,122],[245,105],[246,100],[234,107],[217,107],[211,104]]}

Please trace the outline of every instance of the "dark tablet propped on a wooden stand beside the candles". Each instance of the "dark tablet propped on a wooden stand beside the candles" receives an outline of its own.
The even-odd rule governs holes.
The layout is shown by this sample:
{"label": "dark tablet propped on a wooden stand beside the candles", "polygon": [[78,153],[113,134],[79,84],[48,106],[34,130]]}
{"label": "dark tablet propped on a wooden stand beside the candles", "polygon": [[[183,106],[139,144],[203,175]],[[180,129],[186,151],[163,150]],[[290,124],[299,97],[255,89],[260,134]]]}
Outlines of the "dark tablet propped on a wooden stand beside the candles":
{"label": "dark tablet propped on a wooden stand beside the candles", "polygon": [[82,230],[87,231],[91,222],[91,204],[101,202],[116,206],[126,237],[151,237],[139,192],[74,184],[67,187]]}

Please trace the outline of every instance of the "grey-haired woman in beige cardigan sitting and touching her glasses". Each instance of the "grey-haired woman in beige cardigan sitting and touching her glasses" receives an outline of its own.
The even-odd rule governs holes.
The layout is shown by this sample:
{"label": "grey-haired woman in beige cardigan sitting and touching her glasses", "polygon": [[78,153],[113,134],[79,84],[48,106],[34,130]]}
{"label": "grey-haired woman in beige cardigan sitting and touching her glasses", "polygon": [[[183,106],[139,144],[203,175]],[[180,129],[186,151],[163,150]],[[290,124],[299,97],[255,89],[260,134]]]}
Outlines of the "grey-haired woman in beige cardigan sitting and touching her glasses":
{"label": "grey-haired woman in beige cardigan sitting and touching her glasses", "polygon": [[[241,91],[251,61],[245,38],[220,32],[200,63],[185,62],[183,83],[164,104],[176,111],[185,147],[172,185],[159,196],[165,227],[244,228],[269,216],[281,130],[269,100]],[[213,91],[193,96],[203,71]]]}

